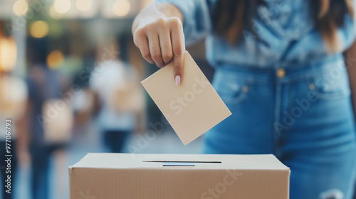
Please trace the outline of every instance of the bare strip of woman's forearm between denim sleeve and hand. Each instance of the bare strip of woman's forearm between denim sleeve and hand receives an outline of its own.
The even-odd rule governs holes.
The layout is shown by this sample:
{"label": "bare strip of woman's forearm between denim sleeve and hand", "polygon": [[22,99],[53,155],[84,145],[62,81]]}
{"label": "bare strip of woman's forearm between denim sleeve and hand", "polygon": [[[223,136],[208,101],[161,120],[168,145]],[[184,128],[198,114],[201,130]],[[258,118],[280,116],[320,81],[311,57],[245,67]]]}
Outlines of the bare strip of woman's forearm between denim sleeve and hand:
{"label": "bare strip of woman's forearm between denim sleeve and hand", "polygon": [[132,23],[132,34],[135,32],[143,20],[150,20],[160,17],[177,17],[183,23],[183,15],[173,4],[150,4],[137,14],[135,21]]}

